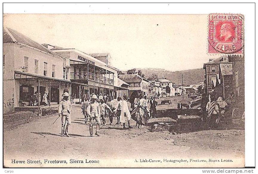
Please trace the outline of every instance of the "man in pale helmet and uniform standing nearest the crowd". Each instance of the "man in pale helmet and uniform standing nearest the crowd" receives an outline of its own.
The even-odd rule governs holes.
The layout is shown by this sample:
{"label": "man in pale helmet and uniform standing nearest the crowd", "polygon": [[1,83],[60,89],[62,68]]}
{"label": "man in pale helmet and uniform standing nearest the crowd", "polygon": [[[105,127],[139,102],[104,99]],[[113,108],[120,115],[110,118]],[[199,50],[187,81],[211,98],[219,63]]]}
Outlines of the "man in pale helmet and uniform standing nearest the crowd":
{"label": "man in pale helmet and uniform standing nearest the crowd", "polygon": [[93,136],[93,121],[96,120],[96,133],[95,135],[100,136],[98,132],[100,132],[100,106],[99,103],[96,101],[97,95],[93,94],[91,97],[91,102],[87,107],[87,114],[90,116],[90,123],[89,123],[89,134]]}

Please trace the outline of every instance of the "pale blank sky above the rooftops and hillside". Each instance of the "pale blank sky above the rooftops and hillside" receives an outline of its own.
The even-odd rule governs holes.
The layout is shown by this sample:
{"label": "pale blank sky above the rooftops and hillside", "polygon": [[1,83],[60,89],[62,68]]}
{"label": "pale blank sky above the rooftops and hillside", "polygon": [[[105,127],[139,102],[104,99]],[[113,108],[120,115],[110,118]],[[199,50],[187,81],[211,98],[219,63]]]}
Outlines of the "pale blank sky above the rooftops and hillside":
{"label": "pale blank sky above the rooftops and hillside", "polygon": [[85,53],[110,53],[120,70],[203,68],[208,15],[7,14],[5,27],[36,42]]}

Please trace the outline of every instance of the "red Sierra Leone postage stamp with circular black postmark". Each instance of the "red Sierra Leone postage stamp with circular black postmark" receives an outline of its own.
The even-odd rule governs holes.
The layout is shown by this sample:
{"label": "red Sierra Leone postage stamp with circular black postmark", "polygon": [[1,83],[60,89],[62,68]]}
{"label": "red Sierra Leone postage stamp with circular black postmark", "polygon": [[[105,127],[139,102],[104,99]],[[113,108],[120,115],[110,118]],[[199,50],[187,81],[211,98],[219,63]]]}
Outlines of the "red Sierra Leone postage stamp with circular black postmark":
{"label": "red Sierra Leone postage stamp with circular black postmark", "polygon": [[242,54],[244,16],[209,14],[208,53]]}

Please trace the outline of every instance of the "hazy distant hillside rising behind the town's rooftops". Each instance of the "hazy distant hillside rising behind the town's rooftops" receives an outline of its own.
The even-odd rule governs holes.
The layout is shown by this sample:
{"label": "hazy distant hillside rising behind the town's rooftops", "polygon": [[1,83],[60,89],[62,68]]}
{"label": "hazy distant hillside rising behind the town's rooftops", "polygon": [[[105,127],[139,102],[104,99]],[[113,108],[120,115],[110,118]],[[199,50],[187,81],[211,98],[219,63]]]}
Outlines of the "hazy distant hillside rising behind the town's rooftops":
{"label": "hazy distant hillside rising behind the town's rooftops", "polygon": [[[160,68],[143,68],[136,69],[141,70],[143,74],[145,74],[144,78],[148,79],[152,73],[157,74],[159,78],[162,76],[166,77],[168,80],[174,82],[177,85],[182,84],[182,74],[183,74],[183,84],[199,84],[199,82],[204,80],[205,70],[203,68],[193,69],[193,70],[183,70],[183,71],[168,71]],[[126,72],[123,72],[126,73]]]}

